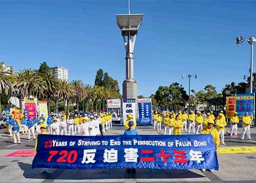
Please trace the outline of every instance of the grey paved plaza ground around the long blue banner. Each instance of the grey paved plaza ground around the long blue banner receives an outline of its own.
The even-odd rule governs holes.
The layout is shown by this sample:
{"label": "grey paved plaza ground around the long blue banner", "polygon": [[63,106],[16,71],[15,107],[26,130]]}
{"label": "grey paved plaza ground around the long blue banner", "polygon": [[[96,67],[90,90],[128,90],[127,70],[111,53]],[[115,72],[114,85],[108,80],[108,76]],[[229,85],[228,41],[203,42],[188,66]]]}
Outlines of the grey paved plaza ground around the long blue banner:
{"label": "grey paved plaza ground around the long blue banner", "polygon": [[[123,134],[123,127],[114,127],[107,135]],[[239,129],[241,134],[241,129]],[[138,127],[143,135],[161,135],[151,127]],[[256,139],[256,130],[252,129]],[[136,170],[135,174],[125,170],[53,170],[52,174],[39,174],[31,169],[33,157],[5,157],[17,150],[34,149],[35,141],[21,135],[21,144],[13,144],[4,130],[0,130],[0,182],[34,183],[169,183],[169,182],[215,182],[215,183],[256,183],[256,153],[218,154],[220,170],[214,173],[200,170]],[[228,146],[256,146],[256,140],[240,140],[226,137]]]}

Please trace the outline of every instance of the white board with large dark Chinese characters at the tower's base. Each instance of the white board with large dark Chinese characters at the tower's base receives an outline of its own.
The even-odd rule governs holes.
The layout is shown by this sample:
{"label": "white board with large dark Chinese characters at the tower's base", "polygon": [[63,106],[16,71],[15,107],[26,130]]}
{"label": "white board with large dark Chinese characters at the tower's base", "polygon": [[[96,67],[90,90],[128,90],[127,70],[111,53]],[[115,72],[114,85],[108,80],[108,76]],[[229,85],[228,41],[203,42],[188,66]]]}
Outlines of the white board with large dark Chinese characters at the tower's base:
{"label": "white board with large dark Chinese characters at the tower's base", "polygon": [[131,114],[136,120],[136,99],[123,99],[123,120],[126,121],[127,115]]}

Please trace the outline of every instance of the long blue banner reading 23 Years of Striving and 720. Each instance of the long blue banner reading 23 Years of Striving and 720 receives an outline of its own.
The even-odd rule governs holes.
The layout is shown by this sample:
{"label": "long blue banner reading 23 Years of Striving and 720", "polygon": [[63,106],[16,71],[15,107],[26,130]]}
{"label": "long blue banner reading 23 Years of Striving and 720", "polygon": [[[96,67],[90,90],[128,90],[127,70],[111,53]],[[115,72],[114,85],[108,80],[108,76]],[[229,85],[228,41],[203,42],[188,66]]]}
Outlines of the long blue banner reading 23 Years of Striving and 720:
{"label": "long blue banner reading 23 Years of Striving and 720", "polygon": [[211,135],[38,135],[36,150],[32,168],[219,168]]}

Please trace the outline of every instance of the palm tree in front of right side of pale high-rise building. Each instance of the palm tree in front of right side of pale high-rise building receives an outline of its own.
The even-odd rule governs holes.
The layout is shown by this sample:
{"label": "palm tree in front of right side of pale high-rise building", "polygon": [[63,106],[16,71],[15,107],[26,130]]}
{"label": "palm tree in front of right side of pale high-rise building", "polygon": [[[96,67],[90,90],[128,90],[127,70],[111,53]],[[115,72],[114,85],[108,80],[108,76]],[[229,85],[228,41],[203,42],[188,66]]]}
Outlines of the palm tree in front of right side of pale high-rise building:
{"label": "palm tree in front of right side of pale high-rise building", "polygon": [[[68,84],[67,80],[61,80],[60,88],[57,92],[57,95],[67,104],[67,113],[69,113],[68,103],[71,97],[74,95],[73,87]],[[64,107],[65,110],[65,107]],[[65,110],[66,112],[66,110]]]}

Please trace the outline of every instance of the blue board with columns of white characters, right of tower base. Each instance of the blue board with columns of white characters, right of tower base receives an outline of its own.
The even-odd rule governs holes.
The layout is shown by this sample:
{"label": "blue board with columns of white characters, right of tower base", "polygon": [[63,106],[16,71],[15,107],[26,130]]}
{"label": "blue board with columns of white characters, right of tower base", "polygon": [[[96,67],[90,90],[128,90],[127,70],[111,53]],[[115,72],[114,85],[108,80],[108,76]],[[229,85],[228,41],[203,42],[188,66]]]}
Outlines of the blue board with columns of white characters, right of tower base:
{"label": "blue board with columns of white characters, right of tower base", "polygon": [[152,125],[151,98],[138,99],[139,125]]}

